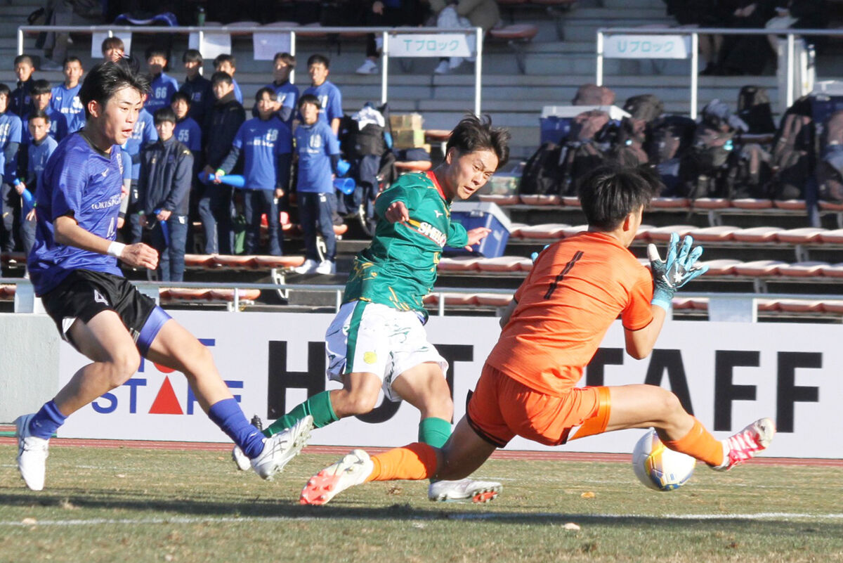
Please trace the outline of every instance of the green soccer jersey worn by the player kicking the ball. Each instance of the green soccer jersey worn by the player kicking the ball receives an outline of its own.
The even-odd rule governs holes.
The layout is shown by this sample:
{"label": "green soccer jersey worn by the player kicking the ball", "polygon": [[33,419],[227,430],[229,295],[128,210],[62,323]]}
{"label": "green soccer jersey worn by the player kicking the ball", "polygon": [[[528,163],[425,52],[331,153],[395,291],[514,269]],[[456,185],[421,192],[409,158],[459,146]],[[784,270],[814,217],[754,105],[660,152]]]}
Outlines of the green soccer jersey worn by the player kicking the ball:
{"label": "green soccer jersey worn by the player kicking the ball", "polygon": [[[410,220],[389,223],[384,213],[403,201]],[[451,223],[451,202],[432,172],[405,174],[375,201],[380,221],[372,244],[354,259],[345,300],[362,299],[427,315],[422,299],[433,289],[442,249],[468,244],[468,234]]]}

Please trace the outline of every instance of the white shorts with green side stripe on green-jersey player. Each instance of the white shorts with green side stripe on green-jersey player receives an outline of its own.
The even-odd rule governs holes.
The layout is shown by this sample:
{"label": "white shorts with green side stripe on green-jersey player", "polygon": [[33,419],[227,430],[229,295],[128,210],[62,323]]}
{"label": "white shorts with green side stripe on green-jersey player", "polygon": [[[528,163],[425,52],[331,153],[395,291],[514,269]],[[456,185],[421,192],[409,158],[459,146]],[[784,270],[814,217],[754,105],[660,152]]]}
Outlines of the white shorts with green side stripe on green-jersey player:
{"label": "white shorts with green side stripe on green-jersey player", "polygon": [[325,332],[328,378],[342,381],[345,373],[374,373],[383,381],[384,395],[400,401],[392,382],[411,367],[424,362],[439,364],[448,373],[448,362],[427,341],[427,333],[413,311],[352,301],[345,303]]}

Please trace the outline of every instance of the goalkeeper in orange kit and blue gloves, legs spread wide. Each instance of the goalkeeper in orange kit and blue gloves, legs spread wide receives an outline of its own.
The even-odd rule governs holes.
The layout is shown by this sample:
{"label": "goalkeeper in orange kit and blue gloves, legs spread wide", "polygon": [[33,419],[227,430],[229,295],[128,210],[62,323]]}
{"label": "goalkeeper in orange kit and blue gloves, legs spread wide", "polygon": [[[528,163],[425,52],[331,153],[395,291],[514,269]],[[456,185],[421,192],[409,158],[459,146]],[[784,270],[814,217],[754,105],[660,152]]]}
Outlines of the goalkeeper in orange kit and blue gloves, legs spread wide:
{"label": "goalkeeper in orange kit and blue gloves, legs spread wide", "polygon": [[628,247],[642,213],[661,187],[651,169],[594,169],[580,201],[588,231],[551,244],[536,258],[504,312],[502,333],[486,359],[465,416],[443,448],[412,443],[369,457],[356,449],[314,475],[303,504],[321,505],[353,485],[384,480],[457,480],[496,448],[522,436],[546,445],[626,428],[654,427],[671,449],[726,470],[767,448],[769,418],[717,440],[676,395],[647,384],[575,387],[609,326],[620,315],[626,351],[647,357],[679,287],[700,276],[702,248],[674,234],[662,260],[647,249],[652,274]]}

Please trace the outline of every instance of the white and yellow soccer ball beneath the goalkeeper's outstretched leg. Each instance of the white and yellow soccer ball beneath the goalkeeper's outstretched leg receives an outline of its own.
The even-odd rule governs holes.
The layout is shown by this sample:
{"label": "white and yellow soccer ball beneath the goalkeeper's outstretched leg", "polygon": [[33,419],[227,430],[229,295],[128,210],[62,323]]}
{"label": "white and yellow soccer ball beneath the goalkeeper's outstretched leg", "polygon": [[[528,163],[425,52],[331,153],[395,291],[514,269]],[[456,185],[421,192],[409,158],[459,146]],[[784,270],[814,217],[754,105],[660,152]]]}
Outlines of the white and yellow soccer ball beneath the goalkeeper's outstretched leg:
{"label": "white and yellow soccer ball beneath the goalkeeper's outstretched leg", "polygon": [[655,430],[638,440],[632,450],[632,469],[644,486],[675,491],[694,475],[696,459],[665,446]]}

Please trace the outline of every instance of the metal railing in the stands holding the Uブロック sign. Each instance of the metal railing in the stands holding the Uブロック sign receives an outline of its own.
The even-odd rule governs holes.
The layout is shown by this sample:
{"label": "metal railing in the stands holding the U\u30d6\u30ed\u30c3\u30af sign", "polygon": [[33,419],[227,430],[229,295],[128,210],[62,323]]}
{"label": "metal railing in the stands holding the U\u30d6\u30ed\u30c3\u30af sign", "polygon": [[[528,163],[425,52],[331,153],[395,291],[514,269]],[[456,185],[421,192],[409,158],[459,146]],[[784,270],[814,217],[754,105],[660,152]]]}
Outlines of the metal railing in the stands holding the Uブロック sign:
{"label": "metal railing in the stands holding the U\u30d6\u30ed\u30c3\u30af sign", "polygon": [[[787,47],[784,57],[787,68],[786,104],[789,108],[793,105],[796,96],[794,95],[795,84],[795,51],[796,38],[806,36],[840,37],[843,30],[840,29],[734,29],[734,28],[636,28],[636,27],[612,27],[600,28],[597,30],[597,84],[603,85],[604,79],[604,40],[608,35],[690,35],[690,116],[696,118],[698,105],[698,67],[699,67],[699,37],[700,35],[786,35]],[[634,58],[634,57],[629,57]],[[648,57],[641,57],[648,58]],[[649,57],[658,58],[658,57]]]}

